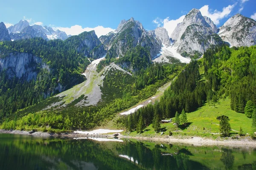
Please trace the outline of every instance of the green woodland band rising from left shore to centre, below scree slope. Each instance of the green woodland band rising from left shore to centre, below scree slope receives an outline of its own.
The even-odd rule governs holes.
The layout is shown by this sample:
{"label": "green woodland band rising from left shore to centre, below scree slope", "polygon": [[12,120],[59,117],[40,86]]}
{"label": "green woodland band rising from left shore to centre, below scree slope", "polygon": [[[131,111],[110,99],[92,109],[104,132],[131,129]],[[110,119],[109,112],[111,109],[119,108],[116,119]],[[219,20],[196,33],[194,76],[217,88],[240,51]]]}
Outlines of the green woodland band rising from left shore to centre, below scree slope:
{"label": "green woodland band rising from left shore to centre, below scree slope", "polygon": [[[164,83],[174,79],[185,64],[148,65],[130,76],[122,71],[111,69],[105,73],[102,90],[102,101],[97,106],[75,107],[70,104],[63,110],[41,111],[50,101],[58,101],[52,97],[44,102],[20,110],[10,118],[6,118],[1,128],[6,129],[92,129],[105,120],[111,120],[116,113],[127,109],[143,99],[154,95]],[[83,97],[81,97],[82,99]],[[79,102],[79,101],[76,101]]]}

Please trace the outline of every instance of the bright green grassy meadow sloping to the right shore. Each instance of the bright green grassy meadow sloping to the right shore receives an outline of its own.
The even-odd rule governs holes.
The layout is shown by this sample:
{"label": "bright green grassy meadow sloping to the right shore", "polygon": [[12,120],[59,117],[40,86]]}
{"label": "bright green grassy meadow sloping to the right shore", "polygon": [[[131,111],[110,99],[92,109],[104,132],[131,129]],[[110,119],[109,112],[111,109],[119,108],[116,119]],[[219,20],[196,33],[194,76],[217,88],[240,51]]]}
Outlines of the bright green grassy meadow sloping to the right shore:
{"label": "bright green grassy meadow sloping to the right shore", "polygon": [[[230,125],[233,130],[239,131],[240,126],[244,133],[250,133],[252,120],[247,118],[242,113],[236,113],[230,109],[230,99],[221,99],[214,105],[208,105],[199,108],[197,111],[187,113],[188,123],[190,124],[187,128],[179,128],[180,132],[174,132],[176,127],[173,123],[161,124],[162,128],[166,128],[166,132],[172,131],[174,135],[195,135],[195,136],[212,136],[210,133],[219,133],[219,121],[216,119],[217,116],[225,115],[230,118]],[[181,132],[182,131],[182,132]],[[232,133],[237,133],[232,131]],[[160,136],[155,133],[151,125],[144,129],[144,132],[137,134],[136,131],[130,134],[131,136]],[[165,133],[164,135],[168,135]],[[213,138],[219,135],[213,135]]]}

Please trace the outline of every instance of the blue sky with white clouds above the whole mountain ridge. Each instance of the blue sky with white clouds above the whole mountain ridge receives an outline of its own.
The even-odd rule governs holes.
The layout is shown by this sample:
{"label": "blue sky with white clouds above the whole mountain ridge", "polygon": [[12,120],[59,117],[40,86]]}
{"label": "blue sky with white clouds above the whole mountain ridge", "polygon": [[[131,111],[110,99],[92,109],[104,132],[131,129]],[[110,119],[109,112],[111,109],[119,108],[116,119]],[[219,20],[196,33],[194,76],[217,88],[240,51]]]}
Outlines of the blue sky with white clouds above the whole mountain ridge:
{"label": "blue sky with white clouds above the whole mountain ridge", "polygon": [[98,36],[131,17],[147,30],[164,26],[170,34],[192,8],[201,9],[218,27],[237,13],[256,19],[256,0],[0,0],[0,4],[0,21],[7,26],[26,19],[30,25],[52,26],[67,34],[96,29]]}

